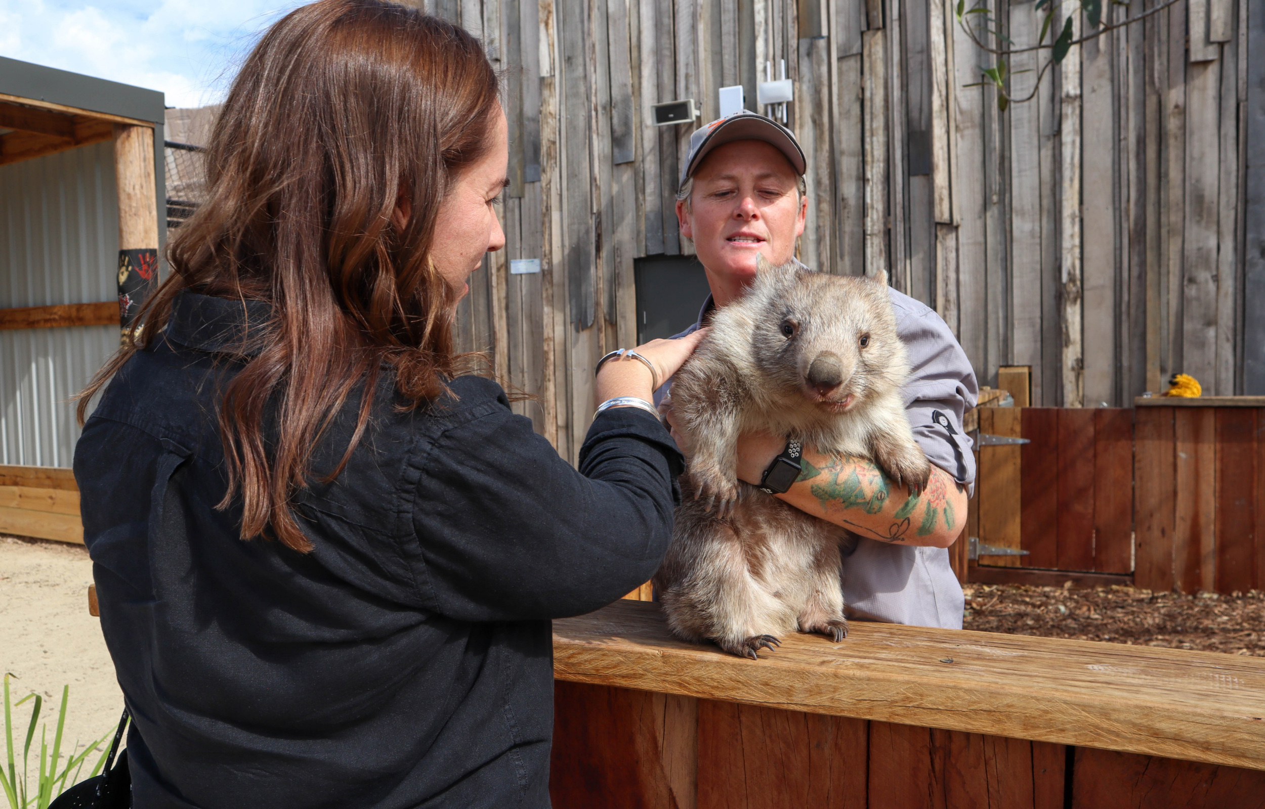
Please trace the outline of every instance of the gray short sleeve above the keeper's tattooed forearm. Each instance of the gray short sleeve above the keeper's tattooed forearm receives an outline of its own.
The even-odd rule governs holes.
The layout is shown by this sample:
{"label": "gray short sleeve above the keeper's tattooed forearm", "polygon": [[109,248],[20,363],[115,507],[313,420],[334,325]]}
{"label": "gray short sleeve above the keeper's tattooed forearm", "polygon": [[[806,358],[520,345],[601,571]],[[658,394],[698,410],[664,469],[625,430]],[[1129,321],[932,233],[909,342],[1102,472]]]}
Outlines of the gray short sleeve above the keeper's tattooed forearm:
{"label": "gray short sleeve above the keeper's tattooed forearm", "polygon": [[[975,456],[961,422],[979,396],[975,372],[949,325],[935,311],[898,305],[897,319],[910,354],[911,373],[902,394],[913,437],[932,464],[973,490]],[[947,427],[937,421],[936,413],[947,420]]]}

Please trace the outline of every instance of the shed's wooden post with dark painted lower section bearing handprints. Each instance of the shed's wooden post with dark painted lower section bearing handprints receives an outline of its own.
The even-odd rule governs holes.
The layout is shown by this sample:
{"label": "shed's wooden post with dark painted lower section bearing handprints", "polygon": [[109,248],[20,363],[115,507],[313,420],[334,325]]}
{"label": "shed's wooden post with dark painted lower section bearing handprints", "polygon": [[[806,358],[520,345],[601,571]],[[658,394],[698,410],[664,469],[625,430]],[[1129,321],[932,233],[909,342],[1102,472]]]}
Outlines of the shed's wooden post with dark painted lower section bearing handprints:
{"label": "shed's wooden post with dark painted lower section bearing handprints", "polygon": [[128,329],[158,282],[152,128],[115,124],[114,177],[119,193],[119,325]]}

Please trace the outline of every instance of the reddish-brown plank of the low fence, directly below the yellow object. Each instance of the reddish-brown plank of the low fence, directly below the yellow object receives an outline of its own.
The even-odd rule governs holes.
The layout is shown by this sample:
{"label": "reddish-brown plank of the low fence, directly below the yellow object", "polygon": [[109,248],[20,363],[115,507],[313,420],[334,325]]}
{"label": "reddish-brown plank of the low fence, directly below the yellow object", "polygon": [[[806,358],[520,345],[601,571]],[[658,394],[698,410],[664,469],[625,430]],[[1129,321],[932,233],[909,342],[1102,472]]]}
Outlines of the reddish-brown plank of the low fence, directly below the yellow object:
{"label": "reddish-brown plank of the low fence, directly below the yellow object", "polygon": [[1216,425],[1211,407],[1174,408],[1174,576],[1183,593],[1216,587]]}

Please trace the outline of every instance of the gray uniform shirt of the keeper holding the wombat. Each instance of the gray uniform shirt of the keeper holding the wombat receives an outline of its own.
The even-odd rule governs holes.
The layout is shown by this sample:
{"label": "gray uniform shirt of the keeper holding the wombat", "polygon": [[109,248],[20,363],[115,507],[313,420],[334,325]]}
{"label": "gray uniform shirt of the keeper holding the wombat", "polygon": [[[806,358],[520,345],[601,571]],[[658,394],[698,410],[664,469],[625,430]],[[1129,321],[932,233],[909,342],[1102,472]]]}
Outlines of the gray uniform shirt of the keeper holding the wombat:
{"label": "gray uniform shirt of the keeper holding the wombat", "polygon": [[[902,393],[913,437],[932,464],[974,489],[975,456],[970,439],[963,432],[961,417],[975,406],[979,394],[975,372],[940,315],[896,289],[891,289],[891,296],[897,332],[910,354],[911,373]],[[713,308],[708,297],[698,321],[674,339],[696,331]],[[670,387],[668,379],[655,391],[655,404]],[[856,537],[855,545],[844,547],[842,554],[849,618],[961,628],[965,604],[947,550]]]}

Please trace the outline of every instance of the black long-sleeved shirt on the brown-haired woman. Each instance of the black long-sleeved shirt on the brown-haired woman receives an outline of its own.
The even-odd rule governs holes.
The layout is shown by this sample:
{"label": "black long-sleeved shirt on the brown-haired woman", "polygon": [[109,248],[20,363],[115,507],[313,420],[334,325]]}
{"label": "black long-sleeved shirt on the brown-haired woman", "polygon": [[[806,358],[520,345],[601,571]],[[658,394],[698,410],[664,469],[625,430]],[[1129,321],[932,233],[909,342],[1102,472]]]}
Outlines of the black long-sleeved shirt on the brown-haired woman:
{"label": "black long-sleeved shirt on the brown-haired woman", "polygon": [[401,411],[387,374],[338,479],[353,396],[295,512],[315,545],[239,538],[218,389],[267,307],[183,293],[75,454],[101,628],[134,717],[134,806],[548,806],[550,618],[650,578],[682,458],[635,408],[579,470],[501,388]]}

